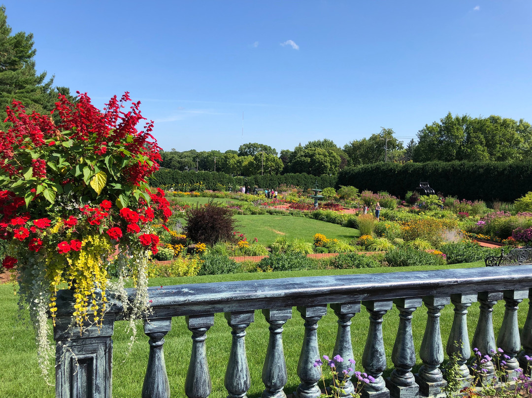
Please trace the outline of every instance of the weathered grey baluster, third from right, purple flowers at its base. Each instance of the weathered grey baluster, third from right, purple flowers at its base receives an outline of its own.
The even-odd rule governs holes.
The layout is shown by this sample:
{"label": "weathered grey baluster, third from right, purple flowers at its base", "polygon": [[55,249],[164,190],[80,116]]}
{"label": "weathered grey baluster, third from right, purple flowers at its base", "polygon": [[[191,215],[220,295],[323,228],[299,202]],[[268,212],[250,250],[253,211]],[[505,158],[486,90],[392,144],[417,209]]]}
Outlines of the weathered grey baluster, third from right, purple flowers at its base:
{"label": "weathered grey baluster, third from right, purple flowers at its base", "polygon": [[[478,383],[483,385],[486,385],[486,382],[493,379],[495,375],[493,361],[487,360],[484,355],[492,358],[493,353],[497,350],[495,334],[493,333],[493,306],[499,300],[502,300],[502,292],[481,292],[478,294],[480,314],[475,335],[473,336],[473,348],[478,349],[482,356],[473,355],[471,365],[477,367]],[[480,360],[486,362],[481,364]],[[481,371],[481,369],[485,369],[485,371]]]}

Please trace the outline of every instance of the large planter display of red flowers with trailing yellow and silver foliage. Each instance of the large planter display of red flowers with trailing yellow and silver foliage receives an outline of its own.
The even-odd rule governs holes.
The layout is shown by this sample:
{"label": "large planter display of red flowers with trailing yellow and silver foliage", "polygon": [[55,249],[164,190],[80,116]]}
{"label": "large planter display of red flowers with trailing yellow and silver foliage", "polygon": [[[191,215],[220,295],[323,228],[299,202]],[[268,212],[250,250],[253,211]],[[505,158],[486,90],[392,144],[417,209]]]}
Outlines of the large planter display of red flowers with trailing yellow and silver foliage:
{"label": "large planter display of red flowers with trailing yellow and silver foliage", "polygon": [[[148,188],[160,148],[152,122],[136,128],[145,120],[139,105],[125,93],[101,112],[87,94],[74,104],[60,95],[53,111],[58,125],[51,115],[26,114],[18,101],[7,107],[12,127],[0,131],[0,238],[9,246],[2,266],[16,273],[19,305],[29,308],[45,374],[53,358],[48,313],[55,324],[63,283],[73,294],[79,333],[101,325],[109,287],[130,319],[147,309],[147,260],[159,244],[152,223],[167,221],[171,211],[164,192]],[[107,269],[117,248],[118,282],[111,286]],[[137,288],[130,301],[128,276]]]}

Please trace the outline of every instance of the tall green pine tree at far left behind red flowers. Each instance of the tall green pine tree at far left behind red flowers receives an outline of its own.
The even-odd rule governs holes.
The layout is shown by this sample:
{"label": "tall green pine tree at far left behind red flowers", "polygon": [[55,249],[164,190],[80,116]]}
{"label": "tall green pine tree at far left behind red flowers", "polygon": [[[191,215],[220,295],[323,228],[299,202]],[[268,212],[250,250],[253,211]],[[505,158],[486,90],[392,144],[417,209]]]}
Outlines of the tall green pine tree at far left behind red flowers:
{"label": "tall green pine tree at far left behind red flowers", "polygon": [[[6,21],[5,6],[0,6],[0,128],[5,127],[5,108],[13,99],[21,101],[28,113],[49,112],[57,101],[57,91],[52,88],[54,78],[45,82],[46,72],[37,74],[35,70],[33,35],[11,35]],[[62,94],[70,95],[70,90]]]}

